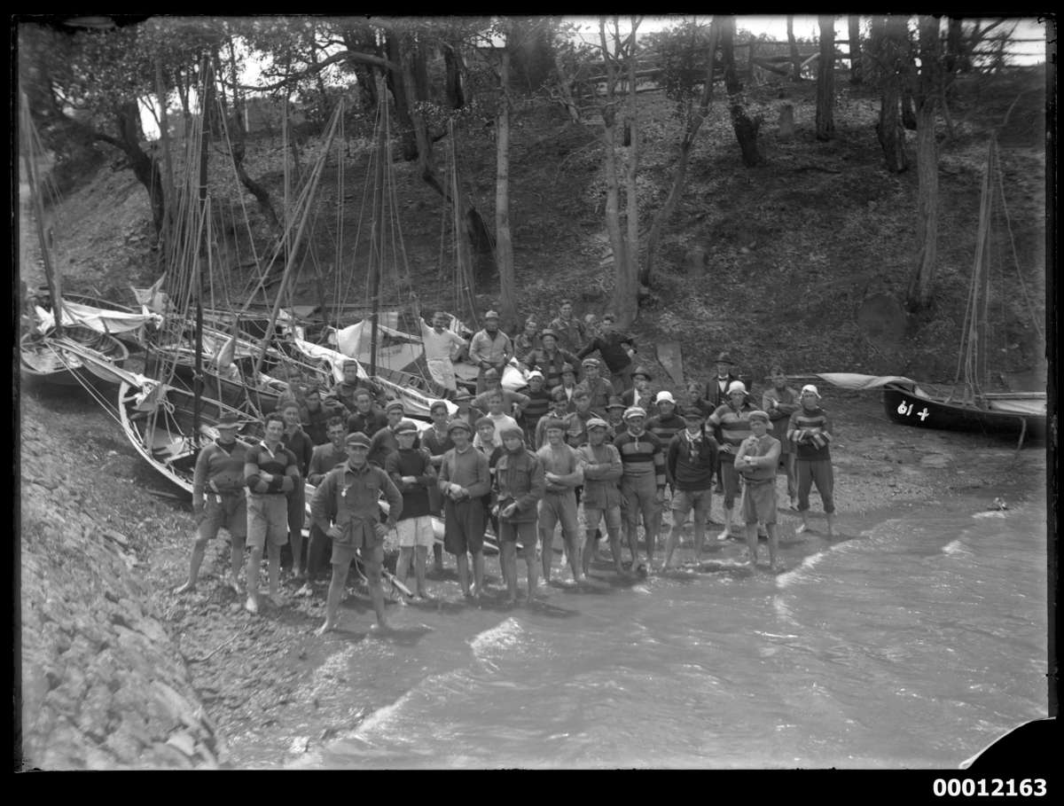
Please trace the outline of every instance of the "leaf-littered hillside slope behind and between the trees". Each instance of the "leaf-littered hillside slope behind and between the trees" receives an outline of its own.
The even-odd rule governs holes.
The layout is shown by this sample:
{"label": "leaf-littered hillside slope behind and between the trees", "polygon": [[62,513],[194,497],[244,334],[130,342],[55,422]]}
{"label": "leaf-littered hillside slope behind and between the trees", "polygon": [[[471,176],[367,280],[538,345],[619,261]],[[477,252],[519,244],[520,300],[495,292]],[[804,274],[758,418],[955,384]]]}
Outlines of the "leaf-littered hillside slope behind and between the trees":
{"label": "leaf-littered hillside slope behind and between the trees", "polygon": [[[816,141],[814,91],[811,82],[782,81],[750,91],[752,111],[765,118],[761,144],[766,159],[754,169],[742,166],[727,112],[719,102],[714,106],[692,155],[686,192],[665,232],[652,293],[634,328],[641,341],[680,341],[689,377],[702,376],[716,353],[728,349],[755,380],[777,360],[792,373],[858,371],[952,379],[988,132],[1001,127],[1008,115],[999,133],[1001,159],[1012,238],[1030,299],[1017,292],[1014,270],[995,276],[996,287],[1007,290],[991,309],[992,342],[1012,385],[1044,379],[1045,346],[1031,330],[1028,312],[1033,308],[1041,326],[1045,320],[1044,73],[1016,72],[992,84],[962,81],[950,99],[954,136],[947,138],[945,124],[940,123],[936,302],[917,316],[890,310],[884,315],[881,306],[862,309],[869,298],[904,297],[916,255],[915,167],[902,174],[884,169],[875,132],[878,97],[842,82],[836,135],[829,142]],[[793,104],[797,128],[788,140],[777,136],[776,121],[784,103]],[[662,94],[641,96],[639,114],[641,226],[646,232],[668,190],[678,123]],[[595,119],[587,125],[566,122],[553,108],[525,113],[515,122],[511,215],[522,315],[549,318],[562,297],[572,297],[579,314],[601,314],[609,305],[612,268],[601,265],[609,250],[597,123]],[[466,131],[458,141],[463,175],[489,225],[495,190],[491,134],[489,129]],[[907,137],[915,161],[915,133],[908,132]],[[314,144],[302,145],[304,170]],[[338,258],[335,204],[340,190],[334,165],[322,179],[313,261],[304,266],[297,288],[307,303],[319,299],[315,267],[323,273],[327,288],[333,286],[337,270],[345,284],[354,272],[350,282],[355,297],[365,288],[360,267],[368,224],[364,222],[360,232],[358,223],[366,191],[367,156],[362,144],[355,139],[348,144]],[[437,145],[442,164],[446,146],[446,139]],[[278,199],[283,194],[283,158],[276,139],[249,144],[249,173]],[[414,165],[397,162],[394,171],[410,287],[417,289],[426,308],[458,312],[446,263],[451,248],[449,213],[417,177]],[[246,205],[250,232],[262,249],[264,229],[253,200],[236,194],[235,183],[223,173],[219,170],[212,180],[221,218],[238,219],[240,204]],[[59,215],[59,263],[72,275],[68,287],[128,296],[129,283],[153,279],[147,197],[128,169],[104,165],[90,172]],[[237,234],[230,236],[229,252],[223,254],[233,266],[245,264],[232,269],[227,280],[238,293],[249,273],[251,250],[244,225],[234,229]],[[1008,238],[998,246],[1001,256],[1011,256]],[[699,279],[684,267],[684,255],[695,248],[708,256],[706,271]],[[402,274],[385,284],[398,304],[409,301],[408,278]],[[480,313],[497,304],[497,281],[481,284],[476,292]],[[879,318],[869,316],[869,310]],[[642,352],[645,358],[652,355],[646,349]]]}

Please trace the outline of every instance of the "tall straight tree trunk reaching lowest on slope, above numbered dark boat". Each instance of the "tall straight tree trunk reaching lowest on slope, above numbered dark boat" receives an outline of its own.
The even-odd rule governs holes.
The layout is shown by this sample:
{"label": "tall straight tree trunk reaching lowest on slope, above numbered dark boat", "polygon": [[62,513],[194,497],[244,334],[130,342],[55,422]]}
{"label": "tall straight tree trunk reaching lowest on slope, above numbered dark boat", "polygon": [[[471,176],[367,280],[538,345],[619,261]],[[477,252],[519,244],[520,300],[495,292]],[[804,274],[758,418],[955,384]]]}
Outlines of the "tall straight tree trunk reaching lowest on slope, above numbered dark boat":
{"label": "tall straight tree trunk reaching lowest on slope, above numbered dark boat", "polygon": [[934,125],[940,96],[938,17],[919,18],[920,69],[916,77],[916,167],[919,194],[916,213],[916,241],[919,251],[909,282],[908,301],[913,309],[931,302],[938,258],[938,145]]}

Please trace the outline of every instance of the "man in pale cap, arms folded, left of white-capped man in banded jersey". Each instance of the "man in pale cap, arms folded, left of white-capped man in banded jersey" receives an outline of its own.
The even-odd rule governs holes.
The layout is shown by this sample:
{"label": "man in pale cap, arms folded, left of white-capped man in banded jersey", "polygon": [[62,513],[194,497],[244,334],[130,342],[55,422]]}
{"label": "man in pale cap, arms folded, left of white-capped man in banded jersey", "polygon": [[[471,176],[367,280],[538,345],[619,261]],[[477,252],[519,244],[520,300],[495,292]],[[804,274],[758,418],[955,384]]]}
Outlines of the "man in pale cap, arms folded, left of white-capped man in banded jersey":
{"label": "man in pale cap, arms folded, left of white-capped man in banded jersey", "polygon": [[[620,474],[624,468],[620,454],[606,439],[610,425],[605,420],[593,417],[587,422],[587,443],[577,449],[584,472],[584,530],[585,542],[582,557],[584,575],[591,567],[592,555],[598,539],[599,523],[605,521],[605,531],[610,536],[610,551],[613,554],[613,565],[617,573],[625,573],[620,558]],[[632,568],[637,565],[632,555]]]}

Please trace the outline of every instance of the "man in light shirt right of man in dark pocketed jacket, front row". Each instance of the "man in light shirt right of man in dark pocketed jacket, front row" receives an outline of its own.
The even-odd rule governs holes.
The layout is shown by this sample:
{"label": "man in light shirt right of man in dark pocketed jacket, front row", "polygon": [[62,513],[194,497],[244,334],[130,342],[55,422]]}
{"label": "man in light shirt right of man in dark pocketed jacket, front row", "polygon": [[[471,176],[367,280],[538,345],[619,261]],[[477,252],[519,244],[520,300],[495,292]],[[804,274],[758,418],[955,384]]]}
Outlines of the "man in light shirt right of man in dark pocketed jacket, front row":
{"label": "man in light shirt right of man in dark pocketed jacket, front row", "polygon": [[545,426],[547,444],[535,455],[543,464],[547,490],[539,501],[539,537],[542,539],[543,578],[550,582],[550,566],[554,558],[554,526],[562,524],[566,555],[572,571],[572,581],[582,582],[580,523],[577,520],[575,488],[584,480],[584,472],[573,451],[564,441],[565,422],[550,418]]}

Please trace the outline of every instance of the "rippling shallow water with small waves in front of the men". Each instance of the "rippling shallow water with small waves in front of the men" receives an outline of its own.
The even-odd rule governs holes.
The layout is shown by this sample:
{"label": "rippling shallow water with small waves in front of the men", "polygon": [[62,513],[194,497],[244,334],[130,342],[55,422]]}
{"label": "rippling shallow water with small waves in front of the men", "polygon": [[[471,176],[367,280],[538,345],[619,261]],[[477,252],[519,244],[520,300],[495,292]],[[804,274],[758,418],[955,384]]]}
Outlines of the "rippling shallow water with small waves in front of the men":
{"label": "rippling shallow water with small waves in front of the men", "polygon": [[602,570],[532,608],[389,608],[389,638],[346,609],[306,692],[352,727],[287,760],[955,768],[1047,711],[1046,513],[982,505],[795,543],[779,575]]}

